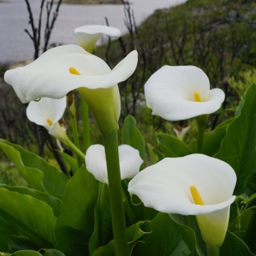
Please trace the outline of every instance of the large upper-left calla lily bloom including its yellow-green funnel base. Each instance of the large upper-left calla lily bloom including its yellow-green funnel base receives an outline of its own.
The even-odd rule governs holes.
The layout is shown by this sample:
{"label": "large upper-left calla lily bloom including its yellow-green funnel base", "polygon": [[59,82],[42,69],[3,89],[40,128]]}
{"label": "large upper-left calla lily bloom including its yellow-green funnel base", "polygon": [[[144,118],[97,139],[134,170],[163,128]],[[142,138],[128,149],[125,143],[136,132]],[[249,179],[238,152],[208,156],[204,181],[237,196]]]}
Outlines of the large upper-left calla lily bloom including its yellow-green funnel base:
{"label": "large upper-left calla lily bloom including its yellow-green funnel base", "polygon": [[132,51],[114,69],[78,45],[55,47],[40,55],[33,63],[7,70],[4,80],[12,85],[21,102],[40,97],[61,98],[78,92],[88,102],[100,130],[118,129],[121,102],[117,83],[135,71],[137,51]]}

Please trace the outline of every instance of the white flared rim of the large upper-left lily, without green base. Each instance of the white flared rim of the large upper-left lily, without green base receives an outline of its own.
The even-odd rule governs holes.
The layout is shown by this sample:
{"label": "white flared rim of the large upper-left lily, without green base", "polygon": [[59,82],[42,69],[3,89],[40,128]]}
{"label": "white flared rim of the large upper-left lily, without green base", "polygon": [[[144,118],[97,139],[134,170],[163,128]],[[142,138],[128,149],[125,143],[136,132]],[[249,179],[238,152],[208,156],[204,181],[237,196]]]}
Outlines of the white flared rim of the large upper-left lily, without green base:
{"label": "white flared rim of the large upper-left lily, without green base", "polygon": [[[78,45],[62,45],[47,50],[31,64],[10,69],[4,74],[21,102],[40,97],[61,98],[77,88],[112,88],[134,72],[138,54],[134,50],[114,69],[100,58],[91,55]],[[81,75],[69,72],[78,70]]]}

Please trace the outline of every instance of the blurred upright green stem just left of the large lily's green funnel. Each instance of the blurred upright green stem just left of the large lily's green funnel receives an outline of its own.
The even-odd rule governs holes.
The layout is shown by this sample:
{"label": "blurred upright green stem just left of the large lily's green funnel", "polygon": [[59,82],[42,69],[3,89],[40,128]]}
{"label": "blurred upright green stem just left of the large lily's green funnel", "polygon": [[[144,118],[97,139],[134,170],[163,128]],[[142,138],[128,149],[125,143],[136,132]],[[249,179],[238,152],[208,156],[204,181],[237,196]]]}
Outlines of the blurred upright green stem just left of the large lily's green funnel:
{"label": "blurred upright green stem just left of the large lily's green funnel", "polygon": [[83,145],[84,145],[84,152],[86,152],[88,147],[91,145],[91,137],[90,137],[89,109],[88,109],[88,104],[83,97],[81,97],[81,107],[82,107],[82,120],[83,120]]}

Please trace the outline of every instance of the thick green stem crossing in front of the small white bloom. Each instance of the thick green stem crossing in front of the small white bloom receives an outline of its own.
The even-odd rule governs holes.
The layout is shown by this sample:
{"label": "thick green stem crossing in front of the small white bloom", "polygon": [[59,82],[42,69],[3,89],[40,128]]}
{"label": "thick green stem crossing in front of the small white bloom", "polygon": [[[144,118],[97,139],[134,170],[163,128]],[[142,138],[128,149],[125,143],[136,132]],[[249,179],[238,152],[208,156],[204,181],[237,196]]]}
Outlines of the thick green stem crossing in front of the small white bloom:
{"label": "thick green stem crossing in front of the small white bloom", "polygon": [[103,134],[107,160],[108,187],[111,203],[111,217],[115,239],[116,256],[128,256],[126,220],[121,190],[121,174],[118,156],[117,130]]}

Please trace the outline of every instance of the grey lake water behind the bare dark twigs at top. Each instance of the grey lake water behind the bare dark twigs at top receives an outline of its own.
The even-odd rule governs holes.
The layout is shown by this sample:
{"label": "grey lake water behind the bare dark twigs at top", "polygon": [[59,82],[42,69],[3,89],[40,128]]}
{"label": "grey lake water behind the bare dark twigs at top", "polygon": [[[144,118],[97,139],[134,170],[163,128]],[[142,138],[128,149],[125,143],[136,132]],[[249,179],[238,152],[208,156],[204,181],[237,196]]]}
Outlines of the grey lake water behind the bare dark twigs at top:
{"label": "grey lake water behind the bare dark twigs at top", "polygon": [[[39,16],[41,1],[31,0],[30,2],[36,20]],[[135,21],[140,24],[154,10],[172,7],[186,2],[186,0],[130,0],[130,2],[135,14]],[[124,7],[122,5],[62,4],[50,37],[50,43],[75,44],[74,28],[92,24],[106,25],[105,17],[107,17],[110,26],[115,26],[122,33],[126,33]],[[42,24],[42,31],[44,27],[45,20]],[[0,0],[0,63],[33,59],[33,44],[24,29],[31,30],[31,26],[28,24],[26,2],[24,0]]]}

